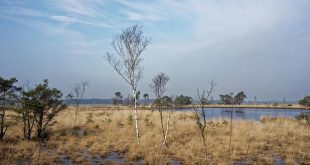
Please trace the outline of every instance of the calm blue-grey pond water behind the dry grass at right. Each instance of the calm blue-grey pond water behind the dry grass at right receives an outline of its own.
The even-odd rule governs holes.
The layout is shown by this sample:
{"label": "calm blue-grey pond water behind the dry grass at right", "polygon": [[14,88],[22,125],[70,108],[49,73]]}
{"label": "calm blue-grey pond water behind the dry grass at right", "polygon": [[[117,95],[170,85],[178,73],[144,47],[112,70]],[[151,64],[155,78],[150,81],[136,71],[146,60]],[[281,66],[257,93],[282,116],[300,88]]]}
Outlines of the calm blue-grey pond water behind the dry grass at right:
{"label": "calm blue-grey pond water behind the dry grass at right", "polygon": [[[191,111],[192,109],[178,109],[177,111]],[[200,109],[198,109],[200,110]],[[309,113],[304,109],[253,109],[253,108],[204,108],[207,119],[230,118],[259,121],[262,117],[294,118],[300,114]]]}

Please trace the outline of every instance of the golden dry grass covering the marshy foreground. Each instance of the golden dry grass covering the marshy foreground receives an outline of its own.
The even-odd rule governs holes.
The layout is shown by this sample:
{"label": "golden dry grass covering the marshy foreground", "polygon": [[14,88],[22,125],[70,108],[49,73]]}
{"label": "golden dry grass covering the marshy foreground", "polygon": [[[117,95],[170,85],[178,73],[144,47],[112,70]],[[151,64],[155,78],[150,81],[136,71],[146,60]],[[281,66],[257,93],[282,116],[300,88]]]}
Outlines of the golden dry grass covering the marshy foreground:
{"label": "golden dry grass covering the marshy foreground", "polygon": [[[139,111],[141,145],[138,146],[135,143],[133,121],[130,119],[133,111],[121,109],[94,110],[84,107],[75,130],[72,129],[73,120],[70,115],[73,114],[73,109],[62,112],[51,126],[49,140],[41,144],[40,150],[35,141],[20,140],[18,136],[21,137],[22,132],[19,126],[16,126],[9,130],[7,141],[0,144],[1,163],[31,160],[33,164],[55,164],[63,158],[70,158],[78,164],[89,164],[85,152],[90,156],[105,157],[109,152],[117,151],[125,153],[126,164],[139,159],[144,159],[145,164],[169,164],[171,160],[179,160],[182,164],[206,164],[205,150],[201,146],[200,135],[191,112],[172,114],[168,135],[169,148],[163,148],[157,111]],[[208,160],[212,164],[229,162],[228,121],[222,119],[208,122]],[[233,122],[233,162],[274,164],[278,157],[287,164],[310,164],[309,125],[285,118],[262,121]],[[247,160],[243,162],[245,157]]]}

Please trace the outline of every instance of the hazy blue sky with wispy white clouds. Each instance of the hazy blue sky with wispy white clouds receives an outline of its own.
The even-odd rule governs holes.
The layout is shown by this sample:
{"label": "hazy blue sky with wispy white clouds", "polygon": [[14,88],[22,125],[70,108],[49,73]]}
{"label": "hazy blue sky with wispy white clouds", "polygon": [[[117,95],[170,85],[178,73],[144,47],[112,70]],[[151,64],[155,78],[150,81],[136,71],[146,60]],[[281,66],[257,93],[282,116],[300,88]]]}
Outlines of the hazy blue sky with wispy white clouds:
{"label": "hazy blue sky with wispy white clouds", "polygon": [[[139,90],[159,72],[166,95],[247,100],[310,95],[309,0],[0,0],[0,76],[33,86],[49,79],[64,94],[88,81],[87,98],[130,87],[103,58],[113,35],[139,24],[152,39],[142,53]],[[151,95],[152,97],[152,95]]]}

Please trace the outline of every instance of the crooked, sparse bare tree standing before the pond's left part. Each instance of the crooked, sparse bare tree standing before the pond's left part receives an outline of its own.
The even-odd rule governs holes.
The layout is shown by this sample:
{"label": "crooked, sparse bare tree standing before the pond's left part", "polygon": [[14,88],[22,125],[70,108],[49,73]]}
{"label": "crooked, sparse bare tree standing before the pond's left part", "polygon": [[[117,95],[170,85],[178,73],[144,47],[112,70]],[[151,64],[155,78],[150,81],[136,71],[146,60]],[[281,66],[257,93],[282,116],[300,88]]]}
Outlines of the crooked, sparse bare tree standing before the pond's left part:
{"label": "crooked, sparse bare tree standing before the pond's left part", "polygon": [[206,112],[204,111],[204,107],[206,104],[208,104],[209,98],[210,98],[211,93],[213,92],[215,86],[216,86],[216,83],[214,81],[211,81],[209,90],[199,91],[197,89],[197,96],[198,96],[199,103],[201,106],[200,110],[199,110],[199,108],[195,108],[195,106],[193,106],[193,112],[196,116],[196,124],[200,130],[201,144],[205,147],[206,158],[208,155],[208,148],[206,145],[206,137],[205,137],[205,130],[207,127],[207,120],[206,120],[207,115],[206,115]]}

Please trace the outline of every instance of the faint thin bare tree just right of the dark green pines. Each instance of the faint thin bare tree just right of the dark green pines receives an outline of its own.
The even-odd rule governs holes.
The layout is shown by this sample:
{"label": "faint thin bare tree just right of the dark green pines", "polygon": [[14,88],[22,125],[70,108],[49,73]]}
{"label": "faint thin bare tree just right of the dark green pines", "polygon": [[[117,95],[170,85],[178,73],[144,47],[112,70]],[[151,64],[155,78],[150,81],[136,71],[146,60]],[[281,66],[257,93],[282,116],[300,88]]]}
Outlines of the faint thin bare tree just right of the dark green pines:
{"label": "faint thin bare tree just right of the dark green pines", "polygon": [[67,98],[73,101],[73,104],[75,106],[75,114],[74,114],[74,125],[76,126],[76,121],[78,118],[78,113],[80,110],[81,101],[84,98],[84,94],[86,89],[89,87],[89,83],[87,81],[81,81],[79,84],[75,84],[72,87],[71,92],[68,94]]}

